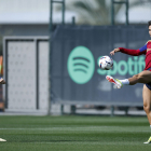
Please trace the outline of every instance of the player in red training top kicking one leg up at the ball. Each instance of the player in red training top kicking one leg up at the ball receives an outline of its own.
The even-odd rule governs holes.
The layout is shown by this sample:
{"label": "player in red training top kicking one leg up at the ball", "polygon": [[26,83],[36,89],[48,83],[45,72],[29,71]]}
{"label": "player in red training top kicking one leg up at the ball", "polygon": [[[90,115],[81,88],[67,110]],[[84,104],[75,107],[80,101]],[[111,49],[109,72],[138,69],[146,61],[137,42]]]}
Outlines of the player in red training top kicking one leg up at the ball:
{"label": "player in red training top kicking one leg up at the ball", "polygon": [[[148,27],[149,27],[149,35],[151,37],[151,20],[148,22]],[[139,50],[118,47],[114,49],[112,52],[110,52],[110,54],[114,55],[114,53],[118,52],[125,53],[133,56],[139,56],[142,54],[146,55],[146,68],[140,73],[124,80],[114,79],[110,76],[107,76],[106,79],[109,82],[115,84],[118,88],[121,88],[123,85],[134,85],[136,83],[145,83],[143,91],[142,91],[143,110],[147,113],[148,121],[150,123],[150,128],[151,128],[151,40],[149,40],[146,43],[146,45],[143,45]],[[147,142],[143,143],[151,143],[151,137]]]}

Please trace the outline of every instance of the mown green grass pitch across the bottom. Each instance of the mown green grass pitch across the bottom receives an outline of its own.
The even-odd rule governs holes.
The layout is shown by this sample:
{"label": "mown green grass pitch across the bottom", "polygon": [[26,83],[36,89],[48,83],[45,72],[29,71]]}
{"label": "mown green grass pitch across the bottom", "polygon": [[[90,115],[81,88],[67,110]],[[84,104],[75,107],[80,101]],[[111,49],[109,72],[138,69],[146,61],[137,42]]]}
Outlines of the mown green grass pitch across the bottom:
{"label": "mown green grass pitch across the bottom", "polygon": [[0,116],[0,151],[151,151],[146,116]]}

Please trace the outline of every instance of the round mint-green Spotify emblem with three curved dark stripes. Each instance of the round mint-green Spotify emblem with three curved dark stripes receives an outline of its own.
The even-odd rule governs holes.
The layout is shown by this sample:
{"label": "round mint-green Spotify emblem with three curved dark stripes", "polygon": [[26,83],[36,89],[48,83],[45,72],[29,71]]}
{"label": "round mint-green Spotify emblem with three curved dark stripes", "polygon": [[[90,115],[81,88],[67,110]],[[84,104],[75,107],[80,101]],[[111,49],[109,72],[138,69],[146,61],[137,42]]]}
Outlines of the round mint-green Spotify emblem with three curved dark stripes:
{"label": "round mint-green Spotify emblem with three curved dark stripes", "polygon": [[69,54],[67,69],[70,78],[78,84],[88,82],[95,70],[92,52],[85,46],[77,46]]}

